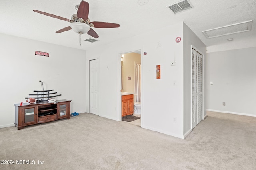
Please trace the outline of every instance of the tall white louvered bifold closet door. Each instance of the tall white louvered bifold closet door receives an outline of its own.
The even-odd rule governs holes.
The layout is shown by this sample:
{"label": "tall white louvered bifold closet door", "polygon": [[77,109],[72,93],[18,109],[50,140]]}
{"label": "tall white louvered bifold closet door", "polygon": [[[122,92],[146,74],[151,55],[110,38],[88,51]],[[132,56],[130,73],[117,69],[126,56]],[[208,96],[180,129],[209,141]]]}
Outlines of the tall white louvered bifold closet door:
{"label": "tall white louvered bifold closet door", "polygon": [[202,120],[202,55],[192,50],[192,128]]}

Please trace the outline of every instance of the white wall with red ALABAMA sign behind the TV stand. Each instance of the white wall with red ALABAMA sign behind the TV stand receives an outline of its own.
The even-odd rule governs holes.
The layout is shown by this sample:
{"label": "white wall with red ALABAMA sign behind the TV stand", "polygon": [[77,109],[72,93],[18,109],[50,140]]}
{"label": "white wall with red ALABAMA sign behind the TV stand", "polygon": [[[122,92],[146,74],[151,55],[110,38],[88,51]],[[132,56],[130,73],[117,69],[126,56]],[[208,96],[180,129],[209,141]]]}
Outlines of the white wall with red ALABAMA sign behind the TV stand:
{"label": "white wall with red ALABAMA sign behind the TV stand", "polygon": [[[14,125],[14,104],[26,102],[33,90],[54,89],[68,99],[71,113],[83,113],[85,106],[86,51],[0,34],[0,127]],[[50,57],[35,55],[48,52]]]}

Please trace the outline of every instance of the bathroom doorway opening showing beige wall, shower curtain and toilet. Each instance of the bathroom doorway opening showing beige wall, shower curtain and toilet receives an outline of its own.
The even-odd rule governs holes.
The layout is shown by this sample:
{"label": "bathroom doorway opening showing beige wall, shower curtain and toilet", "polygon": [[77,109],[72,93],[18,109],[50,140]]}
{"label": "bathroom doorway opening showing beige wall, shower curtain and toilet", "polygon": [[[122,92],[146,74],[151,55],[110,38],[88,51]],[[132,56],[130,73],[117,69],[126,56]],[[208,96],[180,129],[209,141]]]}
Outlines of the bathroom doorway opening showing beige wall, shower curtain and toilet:
{"label": "bathroom doorway opening showing beige wall, shower curtain and toilet", "polygon": [[[133,116],[141,117],[141,54],[140,50],[121,54],[121,98],[133,94]],[[123,104],[123,102],[121,102]],[[122,106],[121,106],[122,107]],[[121,115],[124,107],[121,109]],[[130,110],[131,108],[129,108]],[[141,125],[141,119],[129,122]]]}

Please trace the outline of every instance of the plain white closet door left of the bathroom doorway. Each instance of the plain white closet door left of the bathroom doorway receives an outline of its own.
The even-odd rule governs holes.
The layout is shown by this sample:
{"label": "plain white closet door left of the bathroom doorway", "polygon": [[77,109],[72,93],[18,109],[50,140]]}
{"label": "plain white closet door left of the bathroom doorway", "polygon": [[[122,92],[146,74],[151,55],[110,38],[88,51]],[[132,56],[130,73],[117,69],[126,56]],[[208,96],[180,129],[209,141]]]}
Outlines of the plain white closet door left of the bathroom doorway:
{"label": "plain white closet door left of the bathroom doorway", "polygon": [[90,60],[90,113],[99,115],[99,75],[98,60]]}

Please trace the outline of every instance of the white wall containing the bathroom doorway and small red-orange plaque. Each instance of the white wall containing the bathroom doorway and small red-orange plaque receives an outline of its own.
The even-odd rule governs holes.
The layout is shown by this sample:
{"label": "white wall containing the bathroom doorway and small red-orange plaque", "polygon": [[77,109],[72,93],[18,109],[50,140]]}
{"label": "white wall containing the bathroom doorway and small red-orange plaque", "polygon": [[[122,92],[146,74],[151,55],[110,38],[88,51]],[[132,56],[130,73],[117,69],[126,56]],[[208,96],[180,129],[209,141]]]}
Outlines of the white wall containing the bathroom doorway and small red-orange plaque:
{"label": "white wall containing the bathroom doorway and small red-orange plaque", "polygon": [[[120,54],[141,50],[141,127],[179,138],[184,137],[184,50],[183,41],[176,43],[176,37],[183,40],[183,23],[86,51],[86,67],[89,66],[90,59],[100,60],[100,116],[120,120]],[[195,41],[198,43],[197,39]],[[201,43],[198,44],[202,46]],[[188,50],[191,51],[191,46]],[[144,52],[147,55],[143,55]],[[174,60],[176,66],[171,66],[170,63]],[[161,79],[156,79],[156,65],[161,65]],[[86,80],[89,80],[89,68],[86,70]],[[89,90],[88,81],[86,89]],[[86,95],[86,101],[86,110],[89,111],[89,95]]]}

